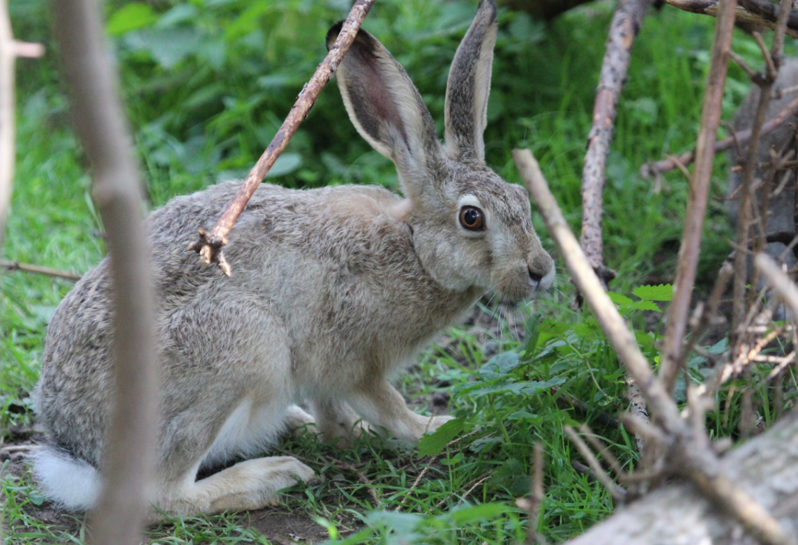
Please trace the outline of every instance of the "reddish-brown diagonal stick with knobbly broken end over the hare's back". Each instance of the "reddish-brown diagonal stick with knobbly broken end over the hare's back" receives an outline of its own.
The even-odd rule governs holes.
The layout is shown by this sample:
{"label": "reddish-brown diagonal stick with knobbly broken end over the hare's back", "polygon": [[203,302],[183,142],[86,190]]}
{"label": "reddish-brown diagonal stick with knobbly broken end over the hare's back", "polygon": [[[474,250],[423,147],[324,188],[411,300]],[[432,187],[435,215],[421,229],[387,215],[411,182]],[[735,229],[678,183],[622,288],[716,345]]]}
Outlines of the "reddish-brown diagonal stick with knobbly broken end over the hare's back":
{"label": "reddish-brown diagonal stick with knobbly broken end over the hare's back", "polygon": [[241,215],[244,207],[247,206],[247,202],[249,202],[252,194],[255,193],[255,189],[258,188],[263,178],[268,174],[269,169],[275,164],[277,158],[288,145],[291,136],[294,136],[294,132],[297,132],[299,124],[307,117],[318,98],[318,93],[322,92],[344,55],[349,51],[354,38],[358,35],[363,18],[369,13],[373,3],[374,0],[357,0],[354,3],[349,16],[344,21],[341,32],[338,34],[338,38],[336,38],[327,56],[324,57],[322,64],[318,65],[310,81],[302,88],[302,93],[299,93],[297,101],[291,107],[286,120],[282,122],[269,147],[266,148],[258,162],[252,167],[247,179],[241,184],[239,191],[230,203],[227,203],[227,207],[224,209],[219,221],[216,222],[209,233],[204,229],[199,229],[199,240],[196,243],[192,243],[189,249],[199,253],[203,264],[216,263],[224,271],[224,274],[230,276],[230,263],[227,263],[222,251],[222,247],[227,244],[227,234],[233,228],[235,221],[239,219],[239,215]]}

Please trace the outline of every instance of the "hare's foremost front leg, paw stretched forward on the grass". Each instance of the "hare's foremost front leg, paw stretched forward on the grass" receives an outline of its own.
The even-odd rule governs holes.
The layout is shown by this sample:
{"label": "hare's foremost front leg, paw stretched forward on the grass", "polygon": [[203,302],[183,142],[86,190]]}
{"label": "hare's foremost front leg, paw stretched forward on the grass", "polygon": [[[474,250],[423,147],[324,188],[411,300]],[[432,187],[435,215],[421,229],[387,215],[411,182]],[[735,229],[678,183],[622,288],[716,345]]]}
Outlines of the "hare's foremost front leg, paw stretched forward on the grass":
{"label": "hare's foremost front leg, paw stretched forward on the grass", "polygon": [[358,389],[349,403],[373,428],[385,428],[397,439],[416,442],[452,417],[422,417],[407,408],[405,398],[388,381],[373,381]]}

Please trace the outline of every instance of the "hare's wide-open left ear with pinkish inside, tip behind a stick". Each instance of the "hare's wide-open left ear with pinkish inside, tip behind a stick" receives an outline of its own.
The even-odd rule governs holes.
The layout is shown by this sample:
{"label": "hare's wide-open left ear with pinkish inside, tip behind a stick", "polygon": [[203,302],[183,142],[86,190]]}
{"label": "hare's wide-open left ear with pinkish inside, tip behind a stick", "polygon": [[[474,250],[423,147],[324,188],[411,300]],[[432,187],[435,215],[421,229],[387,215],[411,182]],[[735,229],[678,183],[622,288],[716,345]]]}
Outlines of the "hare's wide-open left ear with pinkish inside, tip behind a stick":
{"label": "hare's wide-open left ear with pinkish inside, tip behind a stick", "polygon": [[[327,33],[327,49],[341,27],[338,22]],[[354,127],[397,165],[405,195],[418,196],[440,160],[440,142],[433,117],[405,69],[377,38],[359,30],[335,77]]]}

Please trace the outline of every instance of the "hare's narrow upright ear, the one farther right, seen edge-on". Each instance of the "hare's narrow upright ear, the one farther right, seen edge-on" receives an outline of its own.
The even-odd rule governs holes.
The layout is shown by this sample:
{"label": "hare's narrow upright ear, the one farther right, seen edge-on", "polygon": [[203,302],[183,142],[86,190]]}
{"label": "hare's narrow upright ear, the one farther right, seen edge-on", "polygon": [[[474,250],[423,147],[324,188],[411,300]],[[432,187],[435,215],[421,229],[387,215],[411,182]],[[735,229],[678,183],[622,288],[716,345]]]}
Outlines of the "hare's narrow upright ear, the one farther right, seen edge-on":
{"label": "hare's narrow upright ear, the one farther right, seen edge-on", "polygon": [[446,84],[444,151],[451,159],[484,160],[482,133],[488,124],[496,4],[482,0],[476,18],[455,53]]}

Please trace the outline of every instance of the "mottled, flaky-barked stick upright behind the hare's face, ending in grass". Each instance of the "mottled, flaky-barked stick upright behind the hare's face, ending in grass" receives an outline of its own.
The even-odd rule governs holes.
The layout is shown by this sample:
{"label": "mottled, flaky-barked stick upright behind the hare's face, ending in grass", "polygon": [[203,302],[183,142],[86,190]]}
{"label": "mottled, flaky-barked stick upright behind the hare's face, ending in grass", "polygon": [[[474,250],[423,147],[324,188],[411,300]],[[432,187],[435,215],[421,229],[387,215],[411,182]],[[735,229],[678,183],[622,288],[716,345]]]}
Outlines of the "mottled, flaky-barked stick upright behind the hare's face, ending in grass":
{"label": "mottled, flaky-barked stick upright behind the hare's face, ending in grass", "polygon": [[593,126],[587,136],[582,170],[582,236],[579,243],[605,286],[615,274],[602,263],[602,211],[606,156],[610,152],[616,105],[629,69],[630,49],[646,10],[654,0],[620,0],[610,23],[599,89],[593,106]]}

